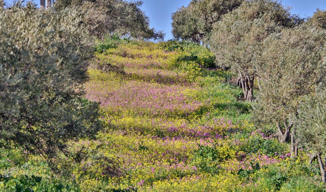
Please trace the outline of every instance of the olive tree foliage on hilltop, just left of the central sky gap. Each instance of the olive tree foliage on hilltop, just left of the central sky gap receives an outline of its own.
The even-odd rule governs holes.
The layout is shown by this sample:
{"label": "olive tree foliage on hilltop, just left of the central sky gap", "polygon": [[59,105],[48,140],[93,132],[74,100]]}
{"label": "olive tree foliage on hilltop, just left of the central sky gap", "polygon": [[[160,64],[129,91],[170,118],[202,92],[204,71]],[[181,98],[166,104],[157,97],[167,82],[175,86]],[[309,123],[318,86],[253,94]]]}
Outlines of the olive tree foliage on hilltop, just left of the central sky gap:
{"label": "olive tree foliage on hilltop, just left of the central sky gap", "polygon": [[119,38],[126,36],[138,39],[163,40],[165,34],[156,32],[149,27],[149,18],[141,10],[141,1],[128,2],[123,0],[58,0],[54,10],[66,7],[79,7],[82,24],[90,35],[103,40],[109,34]]}

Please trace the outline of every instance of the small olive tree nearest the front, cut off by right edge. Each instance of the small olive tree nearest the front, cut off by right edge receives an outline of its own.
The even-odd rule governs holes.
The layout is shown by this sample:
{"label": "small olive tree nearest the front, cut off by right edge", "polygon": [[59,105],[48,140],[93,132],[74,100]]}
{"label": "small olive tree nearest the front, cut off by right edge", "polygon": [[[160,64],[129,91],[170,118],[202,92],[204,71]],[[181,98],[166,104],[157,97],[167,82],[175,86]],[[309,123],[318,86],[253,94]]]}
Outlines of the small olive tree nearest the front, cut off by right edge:
{"label": "small olive tree nearest the front, cut off by right edge", "polygon": [[298,115],[294,118],[297,137],[305,147],[317,153],[321,179],[326,182],[326,86],[300,100]]}

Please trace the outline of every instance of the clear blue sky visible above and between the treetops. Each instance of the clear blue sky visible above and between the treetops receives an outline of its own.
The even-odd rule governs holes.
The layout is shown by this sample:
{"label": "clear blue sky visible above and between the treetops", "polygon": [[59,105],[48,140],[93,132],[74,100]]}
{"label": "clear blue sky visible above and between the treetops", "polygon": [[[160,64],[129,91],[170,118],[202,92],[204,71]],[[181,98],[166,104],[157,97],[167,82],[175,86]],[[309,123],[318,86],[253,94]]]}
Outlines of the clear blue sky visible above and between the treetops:
{"label": "clear blue sky visible above and between the treetops", "polygon": [[[5,0],[8,4],[12,0]],[[34,1],[39,4],[39,1]],[[142,10],[150,18],[151,27],[163,30],[166,33],[165,40],[172,39],[171,14],[178,7],[187,6],[190,0],[143,0]],[[311,16],[317,8],[326,10],[326,0],[283,0],[282,4],[292,7],[292,14],[301,17]]]}

